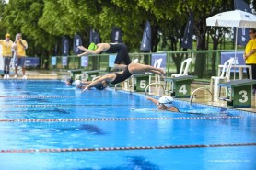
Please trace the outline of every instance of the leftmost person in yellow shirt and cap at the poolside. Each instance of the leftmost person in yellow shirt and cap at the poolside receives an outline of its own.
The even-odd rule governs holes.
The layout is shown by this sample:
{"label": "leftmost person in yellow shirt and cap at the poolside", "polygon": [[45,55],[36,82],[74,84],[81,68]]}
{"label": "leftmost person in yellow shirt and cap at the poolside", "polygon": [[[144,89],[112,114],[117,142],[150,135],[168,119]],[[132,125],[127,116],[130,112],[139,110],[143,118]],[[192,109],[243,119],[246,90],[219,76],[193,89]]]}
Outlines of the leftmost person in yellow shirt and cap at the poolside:
{"label": "leftmost person in yellow shirt and cap at the poolside", "polygon": [[4,79],[10,78],[10,63],[12,60],[12,45],[13,41],[10,40],[10,34],[6,33],[6,40],[0,40],[0,45],[2,45],[2,55],[4,58]]}

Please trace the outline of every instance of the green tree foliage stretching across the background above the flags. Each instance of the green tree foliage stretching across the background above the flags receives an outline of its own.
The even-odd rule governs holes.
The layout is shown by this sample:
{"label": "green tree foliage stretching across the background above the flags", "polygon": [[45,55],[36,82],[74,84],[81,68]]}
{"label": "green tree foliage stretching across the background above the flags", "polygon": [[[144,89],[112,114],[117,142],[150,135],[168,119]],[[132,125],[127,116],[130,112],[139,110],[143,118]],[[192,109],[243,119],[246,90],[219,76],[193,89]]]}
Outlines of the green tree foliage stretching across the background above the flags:
{"label": "green tree foliage stretching across the background above the flags", "polygon": [[[0,13],[1,35],[6,31],[12,35],[22,32],[29,42],[30,55],[52,55],[53,46],[60,44],[61,36],[72,40],[75,33],[82,36],[87,46],[90,29],[108,42],[113,27],[122,28],[122,40],[130,52],[139,51],[146,20],[152,27],[152,51],[182,51],[180,41],[191,11],[196,49],[208,49],[207,33],[214,48],[218,48],[228,29],[218,28],[216,34],[216,29],[206,27],[205,19],[233,10],[233,0],[10,0],[7,5],[3,0],[0,2],[4,9]],[[179,68],[182,56],[173,58],[179,59],[176,63]]]}

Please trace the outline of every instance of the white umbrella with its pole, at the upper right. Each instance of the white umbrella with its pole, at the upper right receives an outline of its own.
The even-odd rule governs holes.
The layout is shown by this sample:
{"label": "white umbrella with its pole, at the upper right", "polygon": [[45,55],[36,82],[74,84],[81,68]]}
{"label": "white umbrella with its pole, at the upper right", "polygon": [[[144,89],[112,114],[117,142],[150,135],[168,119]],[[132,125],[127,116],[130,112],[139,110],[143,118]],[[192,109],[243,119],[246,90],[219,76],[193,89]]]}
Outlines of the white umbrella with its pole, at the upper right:
{"label": "white umbrella with its pole, at the upper right", "polygon": [[[256,28],[256,16],[240,11],[227,11],[206,19],[206,26],[236,28],[235,61],[237,59],[238,28]],[[236,64],[236,62],[235,62]]]}

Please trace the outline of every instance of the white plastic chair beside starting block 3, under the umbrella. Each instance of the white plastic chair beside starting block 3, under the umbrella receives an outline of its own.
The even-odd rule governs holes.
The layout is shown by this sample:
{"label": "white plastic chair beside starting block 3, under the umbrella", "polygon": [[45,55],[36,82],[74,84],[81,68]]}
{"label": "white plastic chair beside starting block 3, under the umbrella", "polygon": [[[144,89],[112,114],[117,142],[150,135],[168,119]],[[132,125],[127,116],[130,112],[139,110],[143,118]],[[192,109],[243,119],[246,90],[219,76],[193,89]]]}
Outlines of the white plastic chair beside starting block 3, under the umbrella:
{"label": "white plastic chair beside starting block 3, under the umbrella", "polygon": [[[211,77],[211,83],[210,83],[210,91],[213,93],[213,84],[214,84],[214,101],[217,101],[217,95],[218,95],[218,84],[220,81],[227,82],[230,79],[230,70],[232,67],[232,64],[234,62],[234,58],[230,58],[227,60],[227,62],[224,63],[221,74],[218,76],[212,76]],[[226,72],[225,72],[226,71]]]}

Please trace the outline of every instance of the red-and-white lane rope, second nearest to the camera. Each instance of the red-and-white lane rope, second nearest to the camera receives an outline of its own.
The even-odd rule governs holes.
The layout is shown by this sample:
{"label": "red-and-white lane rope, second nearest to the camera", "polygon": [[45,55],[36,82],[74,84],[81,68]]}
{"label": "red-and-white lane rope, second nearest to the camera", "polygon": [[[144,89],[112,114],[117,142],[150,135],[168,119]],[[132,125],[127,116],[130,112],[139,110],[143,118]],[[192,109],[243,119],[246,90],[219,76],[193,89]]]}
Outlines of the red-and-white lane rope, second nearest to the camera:
{"label": "red-and-white lane rope, second nearest to the camera", "polygon": [[0,122],[77,122],[77,121],[130,121],[158,119],[241,119],[241,116],[225,117],[177,117],[177,118],[92,118],[92,119],[0,119]]}

